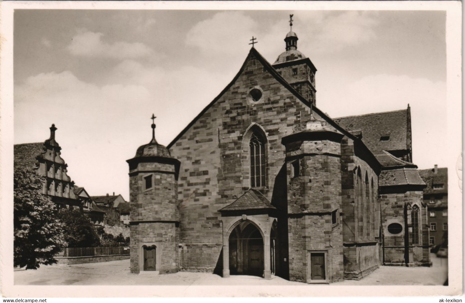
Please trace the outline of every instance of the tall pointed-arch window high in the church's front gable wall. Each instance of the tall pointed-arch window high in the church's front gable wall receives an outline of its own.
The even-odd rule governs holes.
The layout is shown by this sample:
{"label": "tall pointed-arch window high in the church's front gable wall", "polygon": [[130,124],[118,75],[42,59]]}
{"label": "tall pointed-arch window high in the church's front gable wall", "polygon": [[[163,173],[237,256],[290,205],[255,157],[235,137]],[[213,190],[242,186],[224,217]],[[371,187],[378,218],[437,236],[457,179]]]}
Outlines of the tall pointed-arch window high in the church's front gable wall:
{"label": "tall pointed-arch window high in the church's front gable wall", "polygon": [[254,132],[250,138],[250,185],[252,187],[266,186],[265,138]]}

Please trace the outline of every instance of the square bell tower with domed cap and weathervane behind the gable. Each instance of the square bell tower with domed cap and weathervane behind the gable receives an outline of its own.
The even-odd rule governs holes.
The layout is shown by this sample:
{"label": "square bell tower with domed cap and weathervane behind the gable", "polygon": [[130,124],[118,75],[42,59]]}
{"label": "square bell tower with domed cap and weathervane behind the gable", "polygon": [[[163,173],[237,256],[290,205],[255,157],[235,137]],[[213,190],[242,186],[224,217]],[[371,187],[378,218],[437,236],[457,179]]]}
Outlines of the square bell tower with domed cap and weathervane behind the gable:
{"label": "square bell tower with domed cap and weathervane behind the gable", "polygon": [[309,58],[297,50],[299,38],[292,31],[292,17],[293,15],[290,15],[291,30],[284,38],[286,51],[278,56],[272,66],[302,97],[316,105],[315,74],[317,69]]}

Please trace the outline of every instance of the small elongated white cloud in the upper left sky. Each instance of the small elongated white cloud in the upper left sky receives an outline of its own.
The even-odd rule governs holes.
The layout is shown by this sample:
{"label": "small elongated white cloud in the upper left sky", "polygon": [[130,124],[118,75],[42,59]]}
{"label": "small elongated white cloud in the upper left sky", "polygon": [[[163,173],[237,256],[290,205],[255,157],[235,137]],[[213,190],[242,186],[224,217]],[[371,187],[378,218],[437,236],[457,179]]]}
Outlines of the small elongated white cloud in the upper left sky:
{"label": "small elongated white cloud in the upper left sky", "polygon": [[113,59],[134,59],[150,56],[153,50],[140,42],[102,41],[103,33],[81,32],[74,35],[68,51],[75,56],[107,57]]}

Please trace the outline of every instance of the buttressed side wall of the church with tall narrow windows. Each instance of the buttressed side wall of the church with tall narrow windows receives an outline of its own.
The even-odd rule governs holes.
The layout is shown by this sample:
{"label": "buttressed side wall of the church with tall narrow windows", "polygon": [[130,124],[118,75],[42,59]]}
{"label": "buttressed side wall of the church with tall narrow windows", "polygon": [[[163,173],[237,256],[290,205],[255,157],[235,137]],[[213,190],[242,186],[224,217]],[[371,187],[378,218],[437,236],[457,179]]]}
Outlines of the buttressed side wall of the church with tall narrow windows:
{"label": "buttressed side wall of the church with tall narrow windows", "polygon": [[[366,156],[354,148],[352,139],[342,139],[342,223],[345,278],[348,279],[359,279],[364,270],[376,268],[380,263],[378,176],[365,160]],[[365,176],[368,176],[368,188]]]}

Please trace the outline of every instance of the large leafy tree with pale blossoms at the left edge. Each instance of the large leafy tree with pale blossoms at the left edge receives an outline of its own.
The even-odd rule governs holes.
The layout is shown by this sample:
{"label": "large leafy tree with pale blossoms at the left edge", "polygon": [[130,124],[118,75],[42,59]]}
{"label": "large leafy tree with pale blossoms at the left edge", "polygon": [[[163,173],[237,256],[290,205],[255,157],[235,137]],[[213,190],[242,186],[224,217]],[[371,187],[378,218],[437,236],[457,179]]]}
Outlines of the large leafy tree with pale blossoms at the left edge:
{"label": "large leafy tree with pale blossoms at the left edge", "polygon": [[56,263],[54,256],[65,244],[56,206],[42,194],[44,182],[44,177],[31,170],[14,170],[13,264],[27,270]]}

